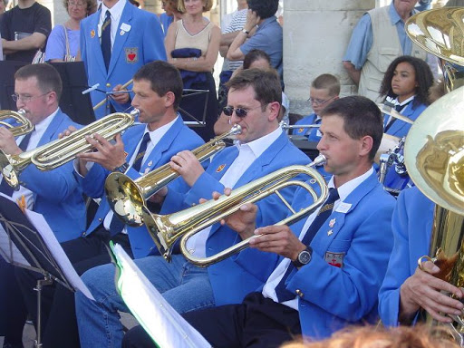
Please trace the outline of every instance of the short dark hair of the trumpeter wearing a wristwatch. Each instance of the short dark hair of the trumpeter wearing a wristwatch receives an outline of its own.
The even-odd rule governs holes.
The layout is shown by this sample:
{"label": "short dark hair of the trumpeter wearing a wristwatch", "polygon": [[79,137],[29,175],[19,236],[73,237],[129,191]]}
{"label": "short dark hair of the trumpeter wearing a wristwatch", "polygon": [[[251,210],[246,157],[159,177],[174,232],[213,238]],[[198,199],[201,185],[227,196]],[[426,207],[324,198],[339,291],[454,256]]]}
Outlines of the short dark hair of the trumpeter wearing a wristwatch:
{"label": "short dark hair of the trumpeter wearing a wristwatch", "polygon": [[370,99],[352,95],[337,99],[327,105],[320,116],[338,116],[343,119],[343,130],[354,140],[366,135],[372,137],[369,160],[373,160],[379,150],[383,135],[382,112]]}

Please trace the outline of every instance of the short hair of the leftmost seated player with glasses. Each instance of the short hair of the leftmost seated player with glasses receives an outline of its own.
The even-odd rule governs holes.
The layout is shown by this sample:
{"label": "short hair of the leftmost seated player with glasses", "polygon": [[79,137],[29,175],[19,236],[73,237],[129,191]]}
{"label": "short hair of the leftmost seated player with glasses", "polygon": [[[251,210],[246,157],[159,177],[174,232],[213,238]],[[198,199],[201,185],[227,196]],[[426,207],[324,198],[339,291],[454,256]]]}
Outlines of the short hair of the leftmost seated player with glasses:
{"label": "short hair of the leftmost seated player with glasses", "polygon": [[27,80],[31,77],[37,79],[37,85],[43,93],[55,92],[56,100],[60,100],[63,92],[62,78],[52,65],[47,63],[28,64],[14,73],[14,80]]}

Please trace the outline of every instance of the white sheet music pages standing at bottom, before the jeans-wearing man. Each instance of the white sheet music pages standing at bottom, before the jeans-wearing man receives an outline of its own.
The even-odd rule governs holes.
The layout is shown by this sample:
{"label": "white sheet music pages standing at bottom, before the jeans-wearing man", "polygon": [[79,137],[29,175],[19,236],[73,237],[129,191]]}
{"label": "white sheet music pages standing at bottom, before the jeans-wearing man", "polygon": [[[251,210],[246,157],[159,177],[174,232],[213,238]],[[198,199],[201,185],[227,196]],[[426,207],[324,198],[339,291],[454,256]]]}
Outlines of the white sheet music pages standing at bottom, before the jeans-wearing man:
{"label": "white sheet music pages standing at bottom, before the jeans-wearing man", "polygon": [[111,247],[121,266],[117,289],[131,313],[160,348],[210,348],[211,344],[164,299],[124,249]]}

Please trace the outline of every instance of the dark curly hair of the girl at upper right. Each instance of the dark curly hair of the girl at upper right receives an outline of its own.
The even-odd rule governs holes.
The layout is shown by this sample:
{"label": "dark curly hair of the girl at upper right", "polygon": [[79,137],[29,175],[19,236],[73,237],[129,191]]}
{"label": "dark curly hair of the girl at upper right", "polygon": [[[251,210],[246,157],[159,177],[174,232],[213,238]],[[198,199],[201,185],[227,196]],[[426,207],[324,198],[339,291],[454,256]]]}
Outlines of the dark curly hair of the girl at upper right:
{"label": "dark curly hair of the girl at upper right", "polygon": [[393,73],[399,63],[410,63],[414,73],[416,75],[416,96],[412,102],[413,106],[420,104],[429,105],[429,89],[433,85],[433,73],[431,73],[430,66],[428,63],[420,58],[411,57],[411,55],[401,55],[390,63],[387,71],[383,75],[381,95],[390,96],[396,98],[396,94],[391,91],[391,80],[393,79]]}

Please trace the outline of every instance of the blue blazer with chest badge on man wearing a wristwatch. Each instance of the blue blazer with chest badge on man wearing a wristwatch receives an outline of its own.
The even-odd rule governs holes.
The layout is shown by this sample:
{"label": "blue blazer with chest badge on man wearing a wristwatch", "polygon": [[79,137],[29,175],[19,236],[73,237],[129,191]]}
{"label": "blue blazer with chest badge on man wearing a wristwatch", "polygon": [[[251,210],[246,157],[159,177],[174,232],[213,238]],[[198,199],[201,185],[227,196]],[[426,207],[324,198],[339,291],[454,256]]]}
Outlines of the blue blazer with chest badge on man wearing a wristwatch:
{"label": "blue blazer with chest badge on man wearing a wristwatch", "polygon": [[[297,194],[295,210],[308,200],[306,192]],[[287,282],[287,290],[299,294],[305,336],[329,337],[343,326],[374,323],[377,318],[377,294],[393,245],[395,199],[372,173],[343,203],[346,212],[339,206],[314,236],[311,262]],[[304,222],[291,226],[296,235]]]}

